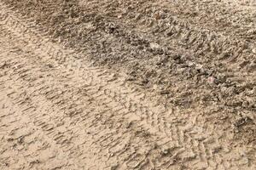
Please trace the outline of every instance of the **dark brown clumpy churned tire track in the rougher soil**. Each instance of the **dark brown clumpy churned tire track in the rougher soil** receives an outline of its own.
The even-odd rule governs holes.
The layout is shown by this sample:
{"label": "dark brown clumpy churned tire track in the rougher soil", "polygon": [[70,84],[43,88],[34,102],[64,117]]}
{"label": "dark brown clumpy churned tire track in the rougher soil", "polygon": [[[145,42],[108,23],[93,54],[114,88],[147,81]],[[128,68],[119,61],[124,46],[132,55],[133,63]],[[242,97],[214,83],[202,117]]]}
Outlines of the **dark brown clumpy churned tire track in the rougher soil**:
{"label": "dark brown clumpy churned tire track in the rougher soil", "polygon": [[[149,80],[149,85],[150,83],[157,83],[160,87],[160,93],[161,92],[161,87],[163,86],[164,88],[169,87],[166,89],[166,92],[169,93],[169,95],[166,96],[171,96],[171,98],[166,97],[165,100],[166,103],[174,103],[175,105],[179,105],[181,107],[192,107],[192,105],[200,105],[201,108],[204,108],[203,110],[206,111],[204,115],[204,119],[206,120],[211,120],[212,117],[214,120],[216,117],[223,115],[225,112],[230,112],[228,115],[229,118],[228,122],[225,122],[225,127],[231,127],[234,124],[236,124],[237,120],[244,119],[244,117],[253,117],[251,115],[252,112],[254,111],[255,105],[253,102],[254,96],[250,95],[248,93],[253,93],[253,85],[254,85],[254,74],[249,73],[249,71],[233,71],[233,68],[237,70],[237,63],[236,58],[239,57],[241,58],[241,50],[238,49],[236,51],[237,46],[241,46],[241,48],[244,47],[244,45],[237,45],[237,41],[233,41],[233,39],[230,41],[230,37],[224,37],[216,34],[216,32],[212,31],[206,31],[206,30],[198,30],[198,27],[196,26],[188,26],[189,20],[180,20],[176,19],[175,17],[173,18],[172,16],[168,15],[166,20],[159,20],[155,21],[152,19],[152,16],[150,15],[153,11],[148,11],[149,14],[143,15],[141,17],[142,20],[154,20],[154,27],[160,27],[164,31],[156,31],[156,32],[151,32],[150,29],[152,27],[149,27],[147,30],[147,34],[142,33],[140,29],[133,29],[134,26],[140,26],[142,27],[143,24],[140,22],[137,22],[137,20],[132,20],[133,18],[131,17],[131,20],[125,20],[125,22],[128,23],[137,23],[135,25],[128,27],[125,27],[124,24],[122,23],[121,20],[118,20],[118,22],[115,22],[116,17],[104,17],[104,15],[109,15],[108,11],[106,11],[106,14],[100,12],[99,17],[91,17],[95,16],[95,11],[92,9],[95,6],[88,6],[88,10],[86,10],[86,13],[89,14],[83,14],[83,10],[79,10],[77,6],[78,1],[57,1],[53,3],[48,3],[49,1],[46,1],[47,3],[43,4],[42,3],[42,8],[45,8],[44,12],[46,12],[47,15],[50,15],[53,17],[53,20],[61,20],[61,18],[55,17],[55,14],[52,14],[52,11],[50,8],[55,8],[57,9],[63,9],[68,13],[67,15],[71,15],[70,17],[77,17],[77,14],[82,13],[81,15],[83,16],[82,19],[79,19],[79,22],[83,22],[85,25],[89,24],[90,22],[93,22],[93,25],[96,25],[97,31],[90,31],[88,30],[83,30],[84,27],[82,26],[82,31],[79,30],[79,25],[77,26],[75,23],[77,23],[76,20],[74,20],[72,26],[70,26],[68,23],[70,23],[70,20],[64,20],[63,22],[55,25],[51,20],[46,19],[43,17],[41,18],[41,15],[39,16],[33,16],[32,18],[35,20],[40,20],[42,26],[45,26],[44,22],[50,22],[52,23],[53,29],[50,29],[50,35],[54,35],[54,37],[58,37],[61,40],[64,41],[65,45],[71,46],[74,48],[79,48],[79,50],[83,49],[84,46],[86,47],[84,53],[88,53],[89,56],[92,56],[90,58],[96,59],[97,63],[103,60],[103,64],[106,64],[106,59],[108,60],[108,63],[115,65],[116,62],[114,60],[119,60],[119,59],[130,59],[131,58],[131,64],[130,61],[125,61],[128,65],[128,71],[131,70],[131,75],[136,75],[139,76],[140,78],[142,77],[143,81],[141,84],[147,83]],[[64,4],[66,2],[66,4]],[[114,1],[116,3],[116,1]],[[143,1],[141,1],[143,2]],[[146,1],[147,2],[147,1]],[[63,3],[63,5],[61,5]],[[94,2],[92,2],[94,3]],[[135,2],[136,3],[136,2]],[[26,5],[30,5],[29,3],[11,3],[12,5],[20,5],[19,8],[23,8],[23,6],[26,7]],[[36,4],[36,3],[35,3]],[[48,4],[49,7],[48,8]],[[111,6],[113,3],[110,1],[103,1],[102,3],[94,4],[100,8],[99,11],[103,11],[104,8],[108,8],[109,5]],[[132,3],[133,4],[133,3]],[[114,4],[116,5],[116,4]],[[125,5],[128,5],[128,3]],[[149,5],[149,6],[148,6]],[[143,9],[150,9],[151,3],[147,3],[147,6]],[[171,4],[169,4],[171,5]],[[61,8],[59,8],[61,6]],[[131,5],[132,6],[132,5]],[[172,5],[171,5],[172,6]],[[17,6],[15,6],[17,7]],[[159,5],[154,4],[154,7],[157,8],[157,10],[160,10],[161,8]],[[38,7],[37,5],[32,5],[32,10],[40,10],[41,7]],[[124,7],[126,8],[126,7]],[[173,8],[173,7],[172,7]],[[181,6],[179,8],[182,8]],[[70,9],[70,10],[69,10]],[[113,8],[112,8],[113,9]],[[156,11],[157,11],[156,10]],[[20,13],[23,13],[22,10],[19,10]],[[26,11],[26,10],[24,10]],[[92,11],[92,13],[90,13]],[[114,11],[113,9],[113,12]],[[137,11],[135,11],[136,13]],[[76,14],[77,13],[77,14]],[[133,13],[133,12],[131,12]],[[60,13],[62,14],[62,13]],[[30,14],[28,14],[31,16]],[[66,14],[64,14],[66,15]],[[172,13],[171,13],[172,15]],[[175,14],[176,16],[177,14]],[[49,17],[51,18],[51,17]],[[96,22],[95,22],[96,21]],[[164,25],[159,25],[161,22],[164,22]],[[163,24],[163,23],[162,23]],[[171,24],[172,27],[172,34],[171,36],[166,37],[165,29],[169,28]],[[64,26],[63,26],[64,25]],[[46,24],[46,27],[49,25]],[[130,27],[129,27],[130,26]],[[52,27],[52,26],[51,26]],[[85,26],[86,27],[86,26]],[[89,26],[90,27],[90,26]],[[70,29],[72,28],[72,29]],[[143,26],[145,28],[145,26]],[[191,33],[192,29],[192,33]],[[54,32],[53,32],[54,30]],[[71,31],[73,30],[73,31]],[[128,31],[125,31],[128,30]],[[134,32],[130,32],[129,30],[132,30]],[[152,29],[151,29],[152,30]],[[68,33],[69,32],[69,33]],[[84,33],[85,32],[85,33]],[[73,36],[70,36],[70,35]],[[87,35],[89,34],[89,35]],[[99,35],[100,36],[99,36]],[[155,36],[155,34],[157,36]],[[59,36],[61,35],[61,36]],[[148,35],[150,35],[148,37]],[[192,35],[192,36],[191,36]],[[108,41],[106,40],[106,37],[110,36],[111,40]],[[150,41],[148,41],[147,38]],[[105,37],[105,38],[104,38]],[[81,40],[82,38],[82,40]],[[187,46],[189,44],[184,44],[187,42],[190,42],[189,40],[193,42],[192,48],[190,46]],[[79,43],[81,40],[81,43]],[[102,41],[103,40],[103,41]],[[169,41],[171,41],[169,43]],[[239,40],[240,41],[240,40]],[[238,41],[238,42],[239,42]],[[246,40],[247,41],[247,40]],[[78,42],[78,43],[77,43]],[[124,43],[119,43],[119,42],[124,42]],[[172,47],[177,48],[175,54],[172,54],[172,49],[167,50],[166,48],[158,48],[156,49],[151,49],[149,47],[150,42],[167,42],[168,45],[172,44]],[[102,46],[99,47],[99,44],[102,43]],[[124,46],[127,46],[127,50],[124,50]],[[143,47],[141,47],[143,46]],[[160,44],[160,47],[165,47],[165,44]],[[230,47],[228,52],[224,52],[224,48]],[[222,48],[224,47],[224,48]],[[92,48],[92,49],[91,49]],[[188,49],[188,48],[191,48]],[[216,49],[218,48],[218,49]],[[143,51],[146,49],[146,53]],[[194,51],[195,50],[195,51]],[[114,53],[114,56],[112,55],[112,51],[116,51]],[[135,53],[133,53],[135,51]],[[223,65],[225,63],[224,60],[218,59],[216,57],[215,52],[219,54],[218,57],[222,58],[224,57],[225,59],[230,59],[230,61],[234,62],[234,65],[232,64],[230,68],[230,63],[228,65]],[[236,51],[236,53],[230,54],[230,51]],[[254,64],[253,60],[248,61],[248,59],[253,59],[252,52],[246,50],[248,54],[244,54],[242,58],[247,58],[247,61],[244,59],[240,59],[241,62],[239,62],[242,67],[247,68],[247,65],[250,65],[250,67],[253,69]],[[121,54],[119,54],[121,52]],[[167,53],[164,54],[164,56],[155,56],[156,54],[162,54],[163,52]],[[206,52],[207,57],[205,57],[205,54],[202,54],[202,52]],[[212,54],[212,52],[214,52]],[[170,53],[170,54],[169,54]],[[177,53],[177,54],[176,54]],[[109,55],[108,55],[109,54]],[[145,67],[145,63],[141,62],[141,59],[134,59],[133,55],[137,54],[137,56],[147,56],[149,57],[148,59],[148,64],[150,65],[149,68],[147,66]],[[209,54],[209,56],[208,56]],[[99,57],[99,55],[101,57]],[[170,55],[170,56],[169,56]],[[125,57],[123,57],[125,56]],[[190,58],[192,59],[192,62],[190,62]],[[235,60],[233,59],[235,58]],[[164,59],[161,59],[164,58]],[[173,59],[172,59],[173,58]],[[159,63],[155,63],[155,59],[160,60]],[[201,60],[202,59],[202,60]],[[212,59],[216,62],[212,62]],[[199,60],[200,62],[198,62]],[[114,62],[113,62],[114,61]],[[120,61],[123,62],[123,61]],[[118,62],[119,63],[119,62]],[[142,65],[140,65],[142,63]],[[167,65],[165,65],[167,63]],[[201,64],[203,65],[201,65]],[[221,63],[221,64],[219,64]],[[239,64],[239,65],[240,65]],[[251,65],[252,64],[252,65]],[[135,66],[134,66],[135,65]],[[137,65],[137,66],[136,66]],[[190,65],[190,66],[189,66]],[[192,66],[191,66],[192,65]],[[254,66],[253,66],[254,65]],[[123,65],[118,65],[123,68]],[[151,68],[153,67],[153,68]],[[133,71],[134,70],[134,71]],[[159,70],[159,71],[158,71]],[[157,73],[156,73],[156,72]],[[166,74],[166,72],[168,74]],[[170,72],[170,74],[169,74]],[[129,71],[130,74],[130,71]],[[145,76],[144,76],[145,75]],[[153,77],[152,77],[153,75]],[[155,80],[157,82],[155,82]],[[173,83],[172,83],[173,82]],[[163,85],[164,84],[164,85]],[[189,86],[188,86],[189,84]],[[178,85],[178,88],[176,86]],[[183,91],[181,93],[180,91]],[[251,91],[251,92],[248,92]],[[255,90],[254,90],[255,91]],[[192,93],[191,93],[192,92]],[[165,93],[165,90],[164,92]],[[170,94],[171,93],[171,94]],[[193,95],[197,94],[197,95]],[[214,108],[212,108],[212,105]],[[225,111],[223,111],[223,108]],[[212,112],[210,110],[218,110],[218,112]],[[247,110],[247,111],[245,111]],[[219,113],[221,111],[221,113]],[[211,115],[211,116],[208,116]],[[241,116],[242,115],[242,116]],[[218,121],[214,122],[214,124],[217,126],[217,124],[223,124],[223,121]],[[255,120],[253,118],[253,120]],[[210,123],[210,122],[209,122]],[[218,126],[219,128],[222,128],[223,126],[220,125]],[[253,131],[255,128],[247,129],[246,131]],[[242,135],[242,133],[240,133]],[[246,133],[247,134],[247,133]],[[245,134],[245,135],[246,135]],[[250,136],[250,135],[249,135]],[[253,138],[252,138],[253,139]],[[251,140],[251,139],[249,139]]]}

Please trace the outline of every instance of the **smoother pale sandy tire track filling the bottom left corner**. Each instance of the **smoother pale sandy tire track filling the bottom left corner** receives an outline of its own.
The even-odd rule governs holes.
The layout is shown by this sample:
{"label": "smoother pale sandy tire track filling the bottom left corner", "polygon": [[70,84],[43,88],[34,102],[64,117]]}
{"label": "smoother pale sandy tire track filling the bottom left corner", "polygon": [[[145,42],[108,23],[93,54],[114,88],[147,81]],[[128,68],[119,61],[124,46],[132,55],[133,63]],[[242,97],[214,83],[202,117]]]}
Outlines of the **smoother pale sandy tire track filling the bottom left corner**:
{"label": "smoother pale sandy tire track filling the bottom left corner", "polygon": [[[53,143],[44,132],[29,121],[22,112],[2,93],[1,87],[1,169],[55,169],[72,166],[72,160]],[[38,114],[40,111],[35,111]],[[42,116],[42,115],[40,115]],[[42,117],[43,119],[43,117]],[[4,132],[4,133],[3,133]]]}

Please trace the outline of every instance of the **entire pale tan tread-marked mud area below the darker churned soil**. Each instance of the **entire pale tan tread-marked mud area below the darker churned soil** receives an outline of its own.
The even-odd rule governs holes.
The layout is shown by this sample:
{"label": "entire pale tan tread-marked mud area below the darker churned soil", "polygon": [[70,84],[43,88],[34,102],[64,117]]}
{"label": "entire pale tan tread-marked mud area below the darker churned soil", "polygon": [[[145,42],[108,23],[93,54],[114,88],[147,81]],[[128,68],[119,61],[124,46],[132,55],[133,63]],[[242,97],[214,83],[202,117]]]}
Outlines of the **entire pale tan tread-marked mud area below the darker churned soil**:
{"label": "entire pale tan tread-marked mud area below the darker churned soil", "polygon": [[1,167],[253,169],[196,114],[154,104],[3,4],[1,13],[12,16],[0,24]]}

